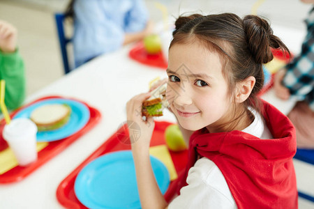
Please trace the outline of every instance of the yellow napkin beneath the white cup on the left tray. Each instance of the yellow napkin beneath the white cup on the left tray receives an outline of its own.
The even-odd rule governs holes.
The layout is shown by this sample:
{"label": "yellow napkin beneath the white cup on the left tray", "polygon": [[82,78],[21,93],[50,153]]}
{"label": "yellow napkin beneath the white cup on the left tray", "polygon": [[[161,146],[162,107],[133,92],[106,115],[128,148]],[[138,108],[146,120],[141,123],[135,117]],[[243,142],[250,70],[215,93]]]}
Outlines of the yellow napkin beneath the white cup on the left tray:
{"label": "yellow napkin beneath the white cup on the left tray", "polygon": [[[37,142],[37,152],[45,148],[48,142]],[[6,173],[10,169],[17,167],[18,163],[13,153],[13,150],[8,147],[0,152],[0,175]]]}

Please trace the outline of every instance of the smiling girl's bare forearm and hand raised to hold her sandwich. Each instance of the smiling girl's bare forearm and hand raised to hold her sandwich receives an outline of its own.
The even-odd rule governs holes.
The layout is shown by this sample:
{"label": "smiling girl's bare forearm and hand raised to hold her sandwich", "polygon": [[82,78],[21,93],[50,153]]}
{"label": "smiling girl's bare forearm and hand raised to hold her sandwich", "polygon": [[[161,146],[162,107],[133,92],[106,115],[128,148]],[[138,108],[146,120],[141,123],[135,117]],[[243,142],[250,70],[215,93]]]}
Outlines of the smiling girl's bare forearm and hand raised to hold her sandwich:
{"label": "smiling girl's bare forearm and hand raised to hold her sandwich", "polygon": [[149,159],[149,144],[154,131],[154,120],[153,118],[147,118],[147,121],[142,120],[142,102],[150,96],[150,93],[142,93],[132,98],[126,105],[129,127],[138,125],[140,128],[140,137],[130,132],[130,141],[142,208],[166,208],[167,202],[156,183]]}

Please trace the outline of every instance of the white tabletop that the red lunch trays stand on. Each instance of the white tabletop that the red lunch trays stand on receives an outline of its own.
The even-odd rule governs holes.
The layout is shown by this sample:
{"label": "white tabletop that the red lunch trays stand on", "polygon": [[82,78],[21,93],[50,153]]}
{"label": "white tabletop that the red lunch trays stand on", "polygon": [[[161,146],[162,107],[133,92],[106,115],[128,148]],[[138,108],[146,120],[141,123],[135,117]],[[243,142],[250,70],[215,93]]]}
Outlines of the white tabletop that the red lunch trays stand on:
{"label": "white tabletop that the red lunch trays stand on", "polygon": [[[276,27],[274,31],[276,32]],[[278,27],[278,34],[292,52],[299,52],[304,33]],[[126,102],[133,95],[147,91],[148,82],[155,77],[167,76],[165,70],[151,68],[129,59],[129,49],[130,46],[119,52],[100,56],[27,98],[25,104],[47,95],[77,98],[96,107],[102,118],[96,127],[24,180],[0,185],[0,208],[63,208],[56,197],[61,180],[126,121]],[[264,99],[274,103],[285,113],[292,105],[276,99],[271,92],[264,95]],[[174,122],[175,118],[165,112],[160,120]]]}

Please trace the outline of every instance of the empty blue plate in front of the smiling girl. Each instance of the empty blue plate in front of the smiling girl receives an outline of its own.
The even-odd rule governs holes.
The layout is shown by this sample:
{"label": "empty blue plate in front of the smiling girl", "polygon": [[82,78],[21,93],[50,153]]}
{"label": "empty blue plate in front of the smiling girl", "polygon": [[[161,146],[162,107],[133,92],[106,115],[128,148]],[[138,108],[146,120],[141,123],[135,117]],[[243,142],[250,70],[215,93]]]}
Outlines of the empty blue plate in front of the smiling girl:
{"label": "empty blue plate in front of the smiling girl", "polygon": [[[170,183],[169,173],[162,162],[150,158],[164,194]],[[141,208],[130,150],[109,153],[87,164],[75,179],[74,191],[87,208]]]}

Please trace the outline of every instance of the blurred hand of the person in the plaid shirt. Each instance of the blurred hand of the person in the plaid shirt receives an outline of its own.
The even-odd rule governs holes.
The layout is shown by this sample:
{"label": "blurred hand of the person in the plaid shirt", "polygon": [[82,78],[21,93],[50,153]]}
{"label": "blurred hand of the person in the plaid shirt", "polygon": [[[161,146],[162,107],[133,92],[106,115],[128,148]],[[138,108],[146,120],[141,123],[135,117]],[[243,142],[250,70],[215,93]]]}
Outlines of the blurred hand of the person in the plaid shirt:
{"label": "blurred hand of the person in the plaid shirt", "polygon": [[290,98],[290,91],[287,87],[283,86],[283,77],[285,77],[285,68],[278,70],[276,72],[275,78],[274,78],[274,90],[276,93],[276,96],[278,98],[281,98],[281,100],[287,100]]}

